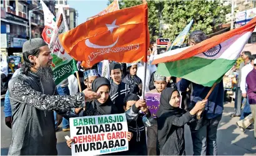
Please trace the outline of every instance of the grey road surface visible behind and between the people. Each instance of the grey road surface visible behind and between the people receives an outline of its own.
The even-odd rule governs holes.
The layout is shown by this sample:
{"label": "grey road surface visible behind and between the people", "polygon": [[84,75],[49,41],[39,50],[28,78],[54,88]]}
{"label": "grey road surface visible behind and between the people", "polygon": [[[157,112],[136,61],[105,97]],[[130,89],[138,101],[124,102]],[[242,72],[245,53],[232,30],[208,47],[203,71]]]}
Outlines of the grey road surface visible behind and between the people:
{"label": "grey road surface visible behind and between the people", "polygon": [[[1,100],[1,155],[7,155],[11,144],[11,129],[4,123],[3,109],[4,99]],[[235,125],[239,117],[230,117],[229,112],[233,110],[234,103],[224,105],[224,113],[217,133],[218,155],[255,155],[256,139],[254,139],[254,131],[241,132]],[[62,132],[62,129],[57,132],[58,155],[71,155],[71,150],[67,147],[64,139],[65,135],[69,135],[69,132]],[[193,154],[192,139],[188,126],[185,126],[185,149],[186,155]]]}

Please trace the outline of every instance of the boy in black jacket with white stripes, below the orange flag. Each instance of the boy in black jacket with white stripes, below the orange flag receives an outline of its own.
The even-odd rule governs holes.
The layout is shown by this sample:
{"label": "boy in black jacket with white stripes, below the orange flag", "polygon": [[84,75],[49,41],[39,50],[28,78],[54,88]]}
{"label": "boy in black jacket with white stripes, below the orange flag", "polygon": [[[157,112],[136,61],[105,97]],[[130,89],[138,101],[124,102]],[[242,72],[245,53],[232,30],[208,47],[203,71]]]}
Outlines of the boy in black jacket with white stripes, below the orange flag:
{"label": "boy in black jacket with white stripes, below the orange flag", "polygon": [[122,82],[122,70],[120,63],[111,63],[109,65],[111,83],[111,101],[116,105],[118,112],[123,113],[124,97],[130,93],[130,85]]}

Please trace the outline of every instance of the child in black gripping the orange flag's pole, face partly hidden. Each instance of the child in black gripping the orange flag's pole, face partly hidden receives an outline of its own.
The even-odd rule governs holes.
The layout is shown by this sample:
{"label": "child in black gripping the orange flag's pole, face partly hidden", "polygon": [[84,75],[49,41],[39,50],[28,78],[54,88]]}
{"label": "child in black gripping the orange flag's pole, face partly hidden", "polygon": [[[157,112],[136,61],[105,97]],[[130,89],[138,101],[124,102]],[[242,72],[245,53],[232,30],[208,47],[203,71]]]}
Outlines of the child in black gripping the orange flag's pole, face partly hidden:
{"label": "child in black gripping the orange flag's pole, face partly hidden", "polygon": [[[143,105],[142,103],[144,103],[144,107],[139,107],[139,105]],[[144,113],[140,113],[140,109]],[[124,111],[128,110],[137,114],[137,117],[134,120],[127,119],[128,131],[132,132],[133,137],[129,142],[129,150],[124,155],[147,155],[145,126],[149,126],[153,118],[145,101],[139,99],[137,94],[128,94],[124,98]]]}

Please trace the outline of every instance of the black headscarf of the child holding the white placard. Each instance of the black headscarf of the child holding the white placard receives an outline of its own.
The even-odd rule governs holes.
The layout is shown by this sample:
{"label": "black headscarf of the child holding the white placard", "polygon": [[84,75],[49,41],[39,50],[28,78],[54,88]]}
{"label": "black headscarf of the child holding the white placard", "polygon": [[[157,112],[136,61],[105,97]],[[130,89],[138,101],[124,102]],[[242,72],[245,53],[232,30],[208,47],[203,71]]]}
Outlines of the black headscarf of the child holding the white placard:
{"label": "black headscarf of the child holding the white placard", "polygon": [[[107,78],[96,78],[96,80],[92,82],[92,91],[97,92],[97,90],[103,85],[108,86],[109,90],[111,89],[111,83],[109,80],[107,80]],[[94,99],[94,101],[92,101],[92,106],[94,109],[97,108],[97,111],[101,112],[102,114],[107,115],[118,113],[117,108],[114,103],[112,103],[110,96],[104,104],[101,104],[97,99]]]}

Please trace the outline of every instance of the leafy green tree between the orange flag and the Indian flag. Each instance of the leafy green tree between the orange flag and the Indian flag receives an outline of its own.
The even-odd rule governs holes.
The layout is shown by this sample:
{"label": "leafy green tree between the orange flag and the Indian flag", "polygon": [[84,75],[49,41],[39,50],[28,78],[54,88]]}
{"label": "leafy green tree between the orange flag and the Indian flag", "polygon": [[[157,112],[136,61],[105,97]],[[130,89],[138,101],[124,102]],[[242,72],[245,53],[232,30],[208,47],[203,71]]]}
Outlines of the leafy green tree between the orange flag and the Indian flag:
{"label": "leafy green tree between the orange flag and the Indian flag", "polygon": [[165,1],[162,14],[165,23],[170,26],[163,31],[164,37],[174,40],[191,19],[194,19],[194,24],[190,32],[202,30],[211,34],[214,27],[225,22],[229,8],[220,1]]}

